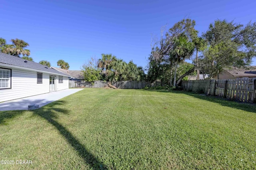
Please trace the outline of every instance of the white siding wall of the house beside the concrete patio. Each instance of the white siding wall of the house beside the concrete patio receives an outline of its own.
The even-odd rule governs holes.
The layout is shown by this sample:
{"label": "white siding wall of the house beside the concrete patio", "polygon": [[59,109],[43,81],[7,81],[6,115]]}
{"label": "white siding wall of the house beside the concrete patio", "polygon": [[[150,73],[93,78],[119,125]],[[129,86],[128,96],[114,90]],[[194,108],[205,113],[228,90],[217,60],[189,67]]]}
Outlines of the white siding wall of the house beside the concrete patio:
{"label": "white siding wall of the house beside the concrete patio", "polygon": [[[12,69],[11,89],[0,89],[0,102],[20,99],[34,95],[40,95],[50,92],[50,74],[40,71],[30,71],[25,69]],[[37,83],[37,73],[43,74],[43,83]],[[52,75],[52,74],[51,74]],[[63,83],[58,83],[58,75],[56,76],[55,89],[68,89],[68,77],[63,77]],[[62,84],[62,85],[59,85]]]}

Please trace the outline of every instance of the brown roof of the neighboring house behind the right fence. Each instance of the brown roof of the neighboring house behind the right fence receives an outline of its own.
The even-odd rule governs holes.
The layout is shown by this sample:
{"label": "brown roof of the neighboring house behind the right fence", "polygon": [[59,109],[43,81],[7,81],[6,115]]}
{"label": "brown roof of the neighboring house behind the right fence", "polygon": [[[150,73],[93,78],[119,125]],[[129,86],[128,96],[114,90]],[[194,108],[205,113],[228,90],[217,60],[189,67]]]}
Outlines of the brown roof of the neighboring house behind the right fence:
{"label": "brown roof of the neighboring house behind the right fence", "polygon": [[225,69],[228,73],[234,77],[256,77],[256,66],[250,66],[246,68]]}

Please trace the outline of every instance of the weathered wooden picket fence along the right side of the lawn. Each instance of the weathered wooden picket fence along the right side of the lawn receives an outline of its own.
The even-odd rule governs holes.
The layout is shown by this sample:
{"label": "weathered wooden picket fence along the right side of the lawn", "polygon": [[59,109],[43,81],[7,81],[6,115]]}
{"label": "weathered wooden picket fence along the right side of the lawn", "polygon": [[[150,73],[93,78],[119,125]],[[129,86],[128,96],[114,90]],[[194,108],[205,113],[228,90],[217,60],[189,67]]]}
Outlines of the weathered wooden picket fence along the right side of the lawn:
{"label": "weathered wooden picket fence along the right side of the lawn", "polygon": [[182,81],[186,91],[206,93],[236,101],[255,103],[256,78]]}

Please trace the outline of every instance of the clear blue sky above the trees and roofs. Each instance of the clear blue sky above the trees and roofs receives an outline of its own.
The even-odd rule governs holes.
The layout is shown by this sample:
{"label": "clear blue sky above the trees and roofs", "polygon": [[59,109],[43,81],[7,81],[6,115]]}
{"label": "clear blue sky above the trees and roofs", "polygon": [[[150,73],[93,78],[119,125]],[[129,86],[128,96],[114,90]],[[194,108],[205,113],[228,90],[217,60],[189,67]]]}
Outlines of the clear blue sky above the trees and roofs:
{"label": "clear blue sky above the trees and roofs", "polygon": [[[30,44],[35,62],[68,62],[79,70],[90,57],[112,53],[146,67],[151,34],[189,16],[205,32],[216,19],[255,22],[256,1],[172,0],[0,0],[0,37]],[[256,65],[256,59],[252,65]]]}

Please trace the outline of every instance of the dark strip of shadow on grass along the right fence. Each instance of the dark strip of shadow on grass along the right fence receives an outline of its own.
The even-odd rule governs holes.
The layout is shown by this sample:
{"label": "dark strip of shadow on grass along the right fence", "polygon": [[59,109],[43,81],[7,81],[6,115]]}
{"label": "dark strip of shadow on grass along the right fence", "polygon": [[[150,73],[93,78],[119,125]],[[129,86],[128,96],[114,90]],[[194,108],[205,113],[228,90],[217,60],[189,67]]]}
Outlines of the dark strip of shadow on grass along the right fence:
{"label": "dark strip of shadow on grass along the right fence", "polygon": [[[235,108],[235,109],[240,109],[240,110],[243,110],[243,111],[256,113],[256,105],[251,104],[251,103],[241,103],[241,102],[237,102],[237,101],[224,99],[224,98],[221,98],[221,97],[206,96],[204,94],[200,95],[198,93],[192,93],[192,92],[187,92],[187,91],[166,91],[166,90],[154,90],[154,91],[158,91],[160,93],[185,94],[185,95],[189,95],[191,97],[195,97],[197,99],[218,103],[222,106],[232,107],[232,108]],[[201,105],[201,104],[198,103],[198,105]]]}

